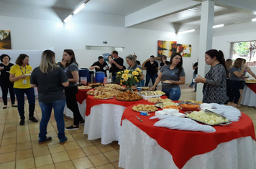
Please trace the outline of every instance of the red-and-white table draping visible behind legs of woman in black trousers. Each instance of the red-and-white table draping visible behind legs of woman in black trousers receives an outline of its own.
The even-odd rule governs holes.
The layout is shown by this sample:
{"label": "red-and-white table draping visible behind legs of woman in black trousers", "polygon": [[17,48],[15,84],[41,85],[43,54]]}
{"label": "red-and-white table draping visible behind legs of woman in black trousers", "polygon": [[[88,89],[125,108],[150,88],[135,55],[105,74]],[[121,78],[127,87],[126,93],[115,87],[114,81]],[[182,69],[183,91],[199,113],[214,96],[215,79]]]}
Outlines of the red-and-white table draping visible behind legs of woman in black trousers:
{"label": "red-and-white table draping visible behind legs of woman in black trousers", "polygon": [[[91,90],[91,89],[90,89]],[[78,93],[76,94],[76,101],[78,102],[78,108],[80,111],[81,116],[83,119],[85,118],[85,112],[86,112],[86,98],[87,98],[87,92],[89,90],[78,90]],[[65,105],[64,108],[65,116],[73,118],[73,112],[68,109],[67,105]]]}

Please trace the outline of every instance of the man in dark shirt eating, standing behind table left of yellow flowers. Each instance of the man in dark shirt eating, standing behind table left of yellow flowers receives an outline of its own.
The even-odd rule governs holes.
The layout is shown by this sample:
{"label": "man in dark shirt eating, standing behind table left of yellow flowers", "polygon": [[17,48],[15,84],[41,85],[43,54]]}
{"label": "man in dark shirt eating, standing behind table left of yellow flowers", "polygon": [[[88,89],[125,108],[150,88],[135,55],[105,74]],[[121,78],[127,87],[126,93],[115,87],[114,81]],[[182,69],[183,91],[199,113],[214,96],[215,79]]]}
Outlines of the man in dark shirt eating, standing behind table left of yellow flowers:
{"label": "man in dark shirt eating, standing behind table left of yellow flowers", "polygon": [[109,61],[111,64],[111,71],[112,71],[112,80],[113,82],[116,80],[116,72],[119,72],[123,69],[124,66],[124,59],[118,56],[118,52],[114,50],[111,52],[113,60]]}

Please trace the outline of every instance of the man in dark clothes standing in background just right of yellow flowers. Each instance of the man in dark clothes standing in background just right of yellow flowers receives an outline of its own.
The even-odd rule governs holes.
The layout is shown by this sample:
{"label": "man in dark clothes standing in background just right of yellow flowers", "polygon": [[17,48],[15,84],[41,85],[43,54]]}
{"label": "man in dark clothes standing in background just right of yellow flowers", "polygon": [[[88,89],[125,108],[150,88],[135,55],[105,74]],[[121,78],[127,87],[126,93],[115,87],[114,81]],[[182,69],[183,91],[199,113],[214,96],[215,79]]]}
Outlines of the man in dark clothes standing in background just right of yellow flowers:
{"label": "man in dark clothes standing in background just right of yellow flowers", "polygon": [[148,86],[150,79],[152,80],[152,84],[155,83],[155,78],[157,77],[158,72],[158,63],[154,59],[155,57],[152,55],[150,56],[150,60],[145,63],[144,67],[147,69],[145,86]]}

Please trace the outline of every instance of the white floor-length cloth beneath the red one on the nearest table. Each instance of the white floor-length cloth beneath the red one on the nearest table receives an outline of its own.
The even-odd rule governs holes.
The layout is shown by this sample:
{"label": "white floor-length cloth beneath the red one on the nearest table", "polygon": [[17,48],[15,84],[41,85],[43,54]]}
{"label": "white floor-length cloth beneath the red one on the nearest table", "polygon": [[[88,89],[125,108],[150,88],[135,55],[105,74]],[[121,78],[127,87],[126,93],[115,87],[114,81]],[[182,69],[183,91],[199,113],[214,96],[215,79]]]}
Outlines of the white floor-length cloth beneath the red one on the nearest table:
{"label": "white floor-length cloth beneath the red one on the nearest table", "polygon": [[[172,155],[132,122],[123,120],[121,130],[119,167],[178,169],[173,163]],[[194,156],[188,160],[183,169],[253,169],[256,166],[255,157],[255,140],[252,140],[252,137],[240,137],[221,143],[208,153]]]}

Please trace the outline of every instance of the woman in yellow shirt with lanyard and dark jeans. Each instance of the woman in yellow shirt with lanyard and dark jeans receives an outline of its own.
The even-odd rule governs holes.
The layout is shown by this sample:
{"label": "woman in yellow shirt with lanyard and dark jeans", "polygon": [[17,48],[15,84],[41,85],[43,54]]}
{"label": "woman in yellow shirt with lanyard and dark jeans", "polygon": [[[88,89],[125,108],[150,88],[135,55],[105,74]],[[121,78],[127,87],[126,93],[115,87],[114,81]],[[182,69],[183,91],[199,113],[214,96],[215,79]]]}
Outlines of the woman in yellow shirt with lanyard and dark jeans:
{"label": "woman in yellow shirt with lanyard and dark jeans", "polygon": [[29,65],[29,57],[27,54],[19,54],[16,60],[16,65],[12,66],[10,70],[10,81],[14,82],[14,93],[18,101],[18,111],[20,116],[19,125],[24,125],[24,94],[27,95],[29,101],[29,120],[38,122],[34,117],[35,111],[35,92],[34,88],[30,86],[30,74],[32,67]]}

